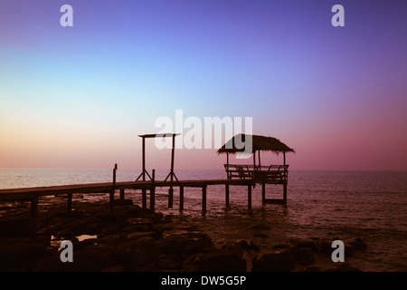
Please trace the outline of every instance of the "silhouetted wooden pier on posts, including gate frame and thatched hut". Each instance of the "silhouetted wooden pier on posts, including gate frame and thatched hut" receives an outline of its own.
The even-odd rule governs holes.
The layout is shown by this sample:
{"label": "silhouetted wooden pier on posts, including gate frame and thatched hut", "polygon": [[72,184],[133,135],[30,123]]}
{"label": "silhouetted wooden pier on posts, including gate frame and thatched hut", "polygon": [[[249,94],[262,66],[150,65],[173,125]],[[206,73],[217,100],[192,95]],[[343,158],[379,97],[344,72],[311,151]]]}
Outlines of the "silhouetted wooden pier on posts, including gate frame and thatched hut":
{"label": "silhouetted wooden pier on posts, including gate frame and thatched hut", "polygon": [[[225,187],[225,204],[229,206],[230,202],[230,187],[242,186],[247,187],[247,202],[248,208],[251,208],[251,188],[256,184],[261,185],[261,200],[262,204],[267,203],[287,203],[287,184],[289,176],[289,166],[286,164],[286,152],[294,150],[279,140],[272,137],[263,137],[253,135],[252,152],[253,164],[252,165],[233,165],[229,163],[229,154],[236,153],[241,149],[228,147],[228,143],[218,150],[218,153],[227,154],[227,163],[224,165],[226,170],[227,179],[198,179],[198,180],[178,180],[174,173],[174,152],[175,152],[175,136],[178,134],[148,134],[140,135],[143,142],[143,159],[142,159],[142,173],[135,181],[117,182],[116,171],[118,169],[115,164],[113,169],[113,181],[105,183],[91,183],[91,184],[76,184],[76,185],[62,185],[52,187],[40,188],[26,188],[26,189],[0,189],[0,201],[30,201],[31,202],[31,224],[35,231],[36,218],[38,212],[38,198],[45,196],[62,196],[67,197],[67,211],[72,209],[72,194],[94,194],[106,193],[109,194],[109,214],[114,215],[115,203],[117,200],[125,200],[126,189],[140,189],[142,191],[142,208],[147,208],[147,191],[149,191],[149,208],[152,211],[156,209],[156,188],[168,188],[168,208],[173,207],[174,188],[179,187],[179,212],[182,213],[184,207],[185,188],[200,188],[202,189],[202,214],[206,214],[206,190],[208,186],[224,186]],[[251,136],[251,135],[250,135]],[[173,140],[171,169],[170,173],[164,180],[156,180],[155,170],[152,174],[148,174],[146,170],[145,161],[145,139],[157,137],[171,137]],[[241,137],[240,137],[241,138]],[[244,139],[244,136],[243,136]],[[232,139],[234,144],[234,140]],[[256,164],[256,150],[259,151],[259,164]],[[284,154],[283,165],[260,165],[260,150],[271,150],[274,152],[282,152]],[[149,180],[147,180],[147,177]],[[142,178],[142,180],[138,180]],[[282,199],[269,199],[266,198],[266,184],[279,184],[283,186]],[[119,199],[115,199],[116,192],[119,191]]]}

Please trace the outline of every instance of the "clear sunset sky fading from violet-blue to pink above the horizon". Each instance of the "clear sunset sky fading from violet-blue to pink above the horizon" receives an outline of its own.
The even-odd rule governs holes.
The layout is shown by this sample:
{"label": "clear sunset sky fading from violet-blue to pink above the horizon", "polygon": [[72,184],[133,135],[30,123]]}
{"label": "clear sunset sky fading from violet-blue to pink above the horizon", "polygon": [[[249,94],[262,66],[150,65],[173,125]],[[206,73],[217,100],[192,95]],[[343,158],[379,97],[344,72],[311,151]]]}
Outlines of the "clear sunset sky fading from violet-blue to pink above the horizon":
{"label": "clear sunset sky fading from violet-blue to pink above the horizon", "polygon": [[[407,170],[405,27],[404,0],[2,0],[0,168],[138,169],[137,135],[182,110],[251,117],[290,169]],[[216,150],[175,169],[222,169]],[[147,140],[147,168],[170,155]]]}

